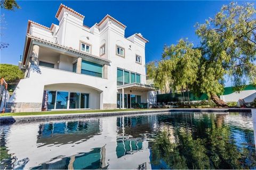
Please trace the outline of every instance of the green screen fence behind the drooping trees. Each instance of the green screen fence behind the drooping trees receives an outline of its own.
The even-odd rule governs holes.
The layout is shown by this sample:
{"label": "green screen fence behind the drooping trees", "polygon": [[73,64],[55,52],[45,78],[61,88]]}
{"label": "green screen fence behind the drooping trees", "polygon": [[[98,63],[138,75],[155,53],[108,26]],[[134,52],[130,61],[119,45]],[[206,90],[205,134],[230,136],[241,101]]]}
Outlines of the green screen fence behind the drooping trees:
{"label": "green screen fence behind the drooping trees", "polygon": [[[247,85],[243,90],[255,90],[256,87],[250,85]],[[224,88],[223,95],[229,95],[235,92],[234,87],[226,87]],[[184,95],[184,96],[183,96]],[[156,100],[159,103],[167,103],[171,101],[183,101],[185,98],[185,101],[188,101],[188,96],[190,101],[197,101],[197,100],[207,100],[208,97],[206,94],[201,94],[199,97],[196,97],[194,94],[191,92],[182,92],[181,94],[178,93],[172,93],[172,94],[162,94],[162,95],[157,95]]]}

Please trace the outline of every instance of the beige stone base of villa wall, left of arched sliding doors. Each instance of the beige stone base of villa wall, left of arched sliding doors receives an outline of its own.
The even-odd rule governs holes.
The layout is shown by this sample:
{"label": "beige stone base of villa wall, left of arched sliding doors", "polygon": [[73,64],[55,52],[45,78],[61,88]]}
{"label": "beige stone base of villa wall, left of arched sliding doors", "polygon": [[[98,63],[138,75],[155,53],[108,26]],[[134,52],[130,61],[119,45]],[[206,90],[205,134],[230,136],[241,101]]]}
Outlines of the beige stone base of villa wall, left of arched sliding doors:
{"label": "beige stone base of villa wall, left of arched sliding doors", "polygon": [[5,112],[41,112],[42,103],[7,102]]}

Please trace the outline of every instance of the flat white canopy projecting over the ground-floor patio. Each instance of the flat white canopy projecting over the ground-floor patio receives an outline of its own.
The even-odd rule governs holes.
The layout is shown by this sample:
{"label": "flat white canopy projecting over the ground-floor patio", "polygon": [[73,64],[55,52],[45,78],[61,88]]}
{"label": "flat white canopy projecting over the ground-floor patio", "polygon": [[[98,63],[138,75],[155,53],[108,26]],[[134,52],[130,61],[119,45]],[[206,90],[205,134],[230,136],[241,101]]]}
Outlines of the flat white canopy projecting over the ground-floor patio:
{"label": "flat white canopy projecting over the ground-floor patio", "polygon": [[146,91],[155,91],[156,89],[150,85],[147,84],[141,84],[141,83],[131,83],[131,84],[124,84],[121,86],[117,86],[117,90],[119,89],[125,89],[125,90],[137,90],[141,92]]}

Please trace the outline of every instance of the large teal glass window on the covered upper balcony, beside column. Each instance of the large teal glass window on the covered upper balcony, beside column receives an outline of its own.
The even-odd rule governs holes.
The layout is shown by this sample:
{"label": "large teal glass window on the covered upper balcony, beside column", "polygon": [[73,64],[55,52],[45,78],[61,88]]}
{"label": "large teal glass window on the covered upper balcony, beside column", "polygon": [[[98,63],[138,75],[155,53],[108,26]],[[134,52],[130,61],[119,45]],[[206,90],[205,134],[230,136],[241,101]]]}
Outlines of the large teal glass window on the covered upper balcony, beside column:
{"label": "large teal glass window on the covered upper balcony, beside column", "polygon": [[82,60],[81,73],[102,78],[102,65]]}

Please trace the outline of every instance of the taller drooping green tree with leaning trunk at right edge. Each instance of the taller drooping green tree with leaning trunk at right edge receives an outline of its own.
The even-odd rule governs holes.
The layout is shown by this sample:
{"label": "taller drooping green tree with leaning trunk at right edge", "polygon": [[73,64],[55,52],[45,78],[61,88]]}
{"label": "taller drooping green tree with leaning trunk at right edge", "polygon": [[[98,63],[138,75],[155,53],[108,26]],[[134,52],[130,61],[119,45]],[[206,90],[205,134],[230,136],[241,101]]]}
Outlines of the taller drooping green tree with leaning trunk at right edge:
{"label": "taller drooping green tree with leaning trunk at right edge", "polygon": [[196,24],[201,38],[202,62],[198,89],[219,106],[227,106],[217,96],[223,92],[225,75],[236,90],[247,82],[256,84],[256,11],[253,4],[223,5],[214,18]]}

